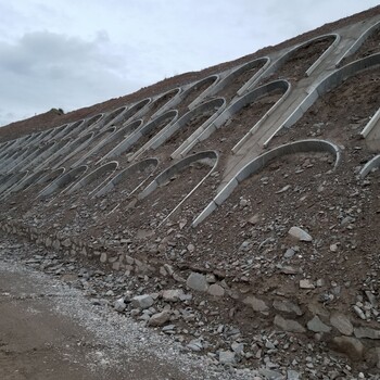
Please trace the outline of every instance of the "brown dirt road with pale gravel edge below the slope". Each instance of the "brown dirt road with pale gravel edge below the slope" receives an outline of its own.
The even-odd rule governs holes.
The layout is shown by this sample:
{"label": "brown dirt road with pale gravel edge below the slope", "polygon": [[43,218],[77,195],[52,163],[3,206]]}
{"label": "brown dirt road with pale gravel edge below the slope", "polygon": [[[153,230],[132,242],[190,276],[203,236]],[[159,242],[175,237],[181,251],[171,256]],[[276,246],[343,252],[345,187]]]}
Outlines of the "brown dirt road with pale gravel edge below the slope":
{"label": "brown dirt road with pale gravel edge below the slope", "polygon": [[3,246],[1,380],[225,378],[141,325],[93,306],[80,291],[26,268]]}

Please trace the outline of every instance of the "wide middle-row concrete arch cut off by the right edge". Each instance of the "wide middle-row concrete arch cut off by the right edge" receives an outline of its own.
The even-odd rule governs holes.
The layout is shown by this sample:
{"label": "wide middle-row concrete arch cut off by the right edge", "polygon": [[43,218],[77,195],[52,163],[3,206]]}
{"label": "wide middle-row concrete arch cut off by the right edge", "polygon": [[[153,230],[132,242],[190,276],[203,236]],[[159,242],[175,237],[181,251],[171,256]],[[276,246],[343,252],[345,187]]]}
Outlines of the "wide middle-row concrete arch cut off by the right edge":
{"label": "wide middle-row concrete arch cut off by the right edge", "polygon": [[359,74],[368,68],[375,68],[380,64],[380,53],[366,56],[362,60],[349,63],[333,73],[321,79],[313,88],[308,89],[308,94],[302,103],[294,110],[294,112],[269,136],[264,142],[264,148],[268,147],[270,140],[282,129],[290,128],[294,125],[302,115],[316,102],[316,100],[326,92],[339,87],[345,79]]}

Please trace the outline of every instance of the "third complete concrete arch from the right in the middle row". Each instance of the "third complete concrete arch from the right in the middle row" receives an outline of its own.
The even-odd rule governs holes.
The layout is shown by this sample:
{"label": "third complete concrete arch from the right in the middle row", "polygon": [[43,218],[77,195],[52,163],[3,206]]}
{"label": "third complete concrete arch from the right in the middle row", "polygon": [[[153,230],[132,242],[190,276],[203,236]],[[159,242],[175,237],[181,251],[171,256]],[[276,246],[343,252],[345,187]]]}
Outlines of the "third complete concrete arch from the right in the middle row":
{"label": "third complete concrete arch from the right in the middle row", "polygon": [[[155,128],[160,127],[161,124],[165,123],[165,121],[168,121],[165,126],[162,128],[166,128],[174,123],[176,123],[178,118],[178,111],[177,110],[172,110],[167,111],[161,116],[156,117],[154,121],[151,121],[150,123],[143,125],[141,128],[138,128],[135,134],[131,136],[127,137],[124,141],[122,141],[117,147],[115,147],[105,157],[105,159],[111,159],[111,157],[116,157],[121,155],[122,153],[127,152],[130,150],[141,138],[144,136],[150,135]],[[162,130],[161,129],[161,130]],[[160,131],[159,131],[160,132]],[[149,145],[151,140],[149,140],[143,147],[141,147],[130,159],[129,161],[136,160],[140,153],[143,152],[143,148]]]}

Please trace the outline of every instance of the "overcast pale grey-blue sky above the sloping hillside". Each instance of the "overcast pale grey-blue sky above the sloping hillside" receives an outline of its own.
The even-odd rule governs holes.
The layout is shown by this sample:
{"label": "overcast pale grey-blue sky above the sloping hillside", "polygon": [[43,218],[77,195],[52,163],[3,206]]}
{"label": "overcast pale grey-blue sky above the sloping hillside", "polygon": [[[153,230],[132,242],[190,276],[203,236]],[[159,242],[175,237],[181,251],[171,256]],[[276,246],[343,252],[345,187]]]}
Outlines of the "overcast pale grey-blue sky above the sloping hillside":
{"label": "overcast pale grey-blue sky above the sloping hillside", "polygon": [[0,0],[0,126],[230,61],[379,0]]}

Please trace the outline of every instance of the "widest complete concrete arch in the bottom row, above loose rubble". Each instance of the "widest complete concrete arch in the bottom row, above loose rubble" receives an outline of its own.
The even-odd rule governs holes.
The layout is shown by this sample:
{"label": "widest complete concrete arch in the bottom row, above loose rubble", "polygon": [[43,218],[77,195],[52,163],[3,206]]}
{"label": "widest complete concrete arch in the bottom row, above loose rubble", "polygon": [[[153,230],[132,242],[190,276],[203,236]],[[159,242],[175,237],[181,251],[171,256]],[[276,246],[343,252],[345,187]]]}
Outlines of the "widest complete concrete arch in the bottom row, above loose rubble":
{"label": "widest complete concrete arch in the bottom row, above loose rubble", "polygon": [[326,140],[301,140],[275,148],[252,160],[239,173],[237,173],[237,175],[216,194],[216,197],[204,208],[204,211],[194,219],[192,227],[197,227],[200,223],[202,223],[211,213],[213,213],[221,203],[224,203],[229,198],[229,195],[233,192],[240,182],[262,170],[270,160],[278,159],[287,154],[302,152],[331,153],[335,159],[334,168],[338,166],[341,160],[339,148]]}

